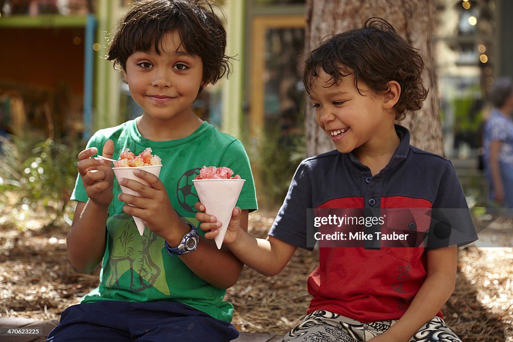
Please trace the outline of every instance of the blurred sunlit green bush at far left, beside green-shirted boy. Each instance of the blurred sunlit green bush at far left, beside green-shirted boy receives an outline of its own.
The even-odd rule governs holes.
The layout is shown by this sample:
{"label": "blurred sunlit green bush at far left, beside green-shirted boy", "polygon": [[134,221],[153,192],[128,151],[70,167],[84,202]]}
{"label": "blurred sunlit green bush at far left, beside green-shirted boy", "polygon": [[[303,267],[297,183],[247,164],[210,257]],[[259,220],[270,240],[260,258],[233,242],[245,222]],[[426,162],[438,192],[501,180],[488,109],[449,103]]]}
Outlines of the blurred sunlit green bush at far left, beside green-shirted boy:
{"label": "blurred sunlit green bush at far left, beside green-shirted boy", "polygon": [[79,141],[37,135],[0,140],[0,207],[45,212],[53,220],[70,210]]}

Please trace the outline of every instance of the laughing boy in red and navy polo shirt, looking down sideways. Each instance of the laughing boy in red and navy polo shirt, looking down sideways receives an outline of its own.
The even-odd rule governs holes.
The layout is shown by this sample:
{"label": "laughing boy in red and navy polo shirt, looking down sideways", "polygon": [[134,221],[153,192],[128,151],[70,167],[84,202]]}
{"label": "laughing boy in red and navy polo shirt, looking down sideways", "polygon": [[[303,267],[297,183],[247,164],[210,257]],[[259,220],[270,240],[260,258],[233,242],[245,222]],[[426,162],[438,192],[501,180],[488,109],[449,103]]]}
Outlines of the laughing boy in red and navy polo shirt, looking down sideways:
{"label": "laughing boy in red and navy polo shirt, looking down sideways", "polygon": [[[337,150],[301,163],[267,239],[244,232],[235,208],[224,245],[246,265],[274,275],[297,247],[313,247],[309,208],[389,210],[385,229],[392,214],[401,223],[412,209],[459,211],[441,232],[411,213],[412,220],[402,220],[400,229],[427,232],[425,247],[320,244],[319,267],[307,280],[308,315],[284,341],[460,341],[440,309],[455,287],[456,247],[476,240],[476,232],[450,161],[410,146],[408,130],[394,124],[421,108],[422,69],[417,51],[377,18],[310,53],[304,84],[315,119]],[[206,237],[218,234],[215,217],[200,212],[196,218]]]}

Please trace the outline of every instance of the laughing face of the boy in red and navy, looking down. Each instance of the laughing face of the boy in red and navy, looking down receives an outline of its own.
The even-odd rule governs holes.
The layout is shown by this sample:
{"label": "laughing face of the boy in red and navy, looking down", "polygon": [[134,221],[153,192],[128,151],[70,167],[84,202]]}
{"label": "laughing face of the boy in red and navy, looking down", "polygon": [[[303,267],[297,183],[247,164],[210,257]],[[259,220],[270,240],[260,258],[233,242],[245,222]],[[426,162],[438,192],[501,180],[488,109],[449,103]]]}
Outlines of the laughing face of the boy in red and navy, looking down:
{"label": "laughing face of the boy in red and navy, looking down", "polygon": [[354,149],[378,151],[384,138],[391,132],[396,134],[393,105],[387,96],[376,94],[362,81],[358,87],[363,95],[356,89],[352,75],[341,77],[338,84],[333,84],[331,75],[322,69],[311,87],[317,124],[341,153]]}

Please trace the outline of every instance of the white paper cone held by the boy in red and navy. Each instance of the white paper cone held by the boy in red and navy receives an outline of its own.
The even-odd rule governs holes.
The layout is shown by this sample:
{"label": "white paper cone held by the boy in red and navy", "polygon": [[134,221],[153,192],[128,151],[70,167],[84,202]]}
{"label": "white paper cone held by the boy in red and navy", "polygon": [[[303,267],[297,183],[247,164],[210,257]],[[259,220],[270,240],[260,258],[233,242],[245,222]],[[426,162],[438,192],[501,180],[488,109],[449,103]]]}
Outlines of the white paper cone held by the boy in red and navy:
{"label": "white paper cone held by the boy in red and navy", "polygon": [[219,234],[214,237],[215,245],[221,249],[231,219],[231,212],[237,204],[246,179],[193,179],[194,187],[205,206],[205,213],[214,215],[223,223]]}

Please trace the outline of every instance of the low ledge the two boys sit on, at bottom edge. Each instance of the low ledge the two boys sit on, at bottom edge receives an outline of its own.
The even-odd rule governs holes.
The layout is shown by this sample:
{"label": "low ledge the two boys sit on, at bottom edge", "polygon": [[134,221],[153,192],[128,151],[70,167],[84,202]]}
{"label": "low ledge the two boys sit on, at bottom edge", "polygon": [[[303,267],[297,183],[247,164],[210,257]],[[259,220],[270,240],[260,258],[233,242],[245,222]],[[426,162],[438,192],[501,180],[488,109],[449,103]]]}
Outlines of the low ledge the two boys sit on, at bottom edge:
{"label": "low ledge the two boys sit on, at bottom edge", "polygon": [[[11,336],[0,335],[2,342],[43,342],[46,341],[46,336],[58,324],[55,320],[39,320],[33,318],[21,317],[0,317],[0,328],[21,328],[21,329],[39,329],[40,333],[35,336]],[[281,336],[276,336],[267,333],[244,333],[234,341],[237,342],[278,342],[281,341]]]}

